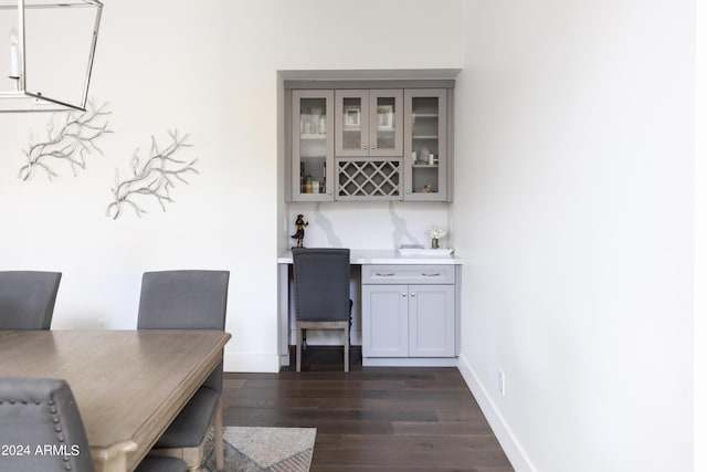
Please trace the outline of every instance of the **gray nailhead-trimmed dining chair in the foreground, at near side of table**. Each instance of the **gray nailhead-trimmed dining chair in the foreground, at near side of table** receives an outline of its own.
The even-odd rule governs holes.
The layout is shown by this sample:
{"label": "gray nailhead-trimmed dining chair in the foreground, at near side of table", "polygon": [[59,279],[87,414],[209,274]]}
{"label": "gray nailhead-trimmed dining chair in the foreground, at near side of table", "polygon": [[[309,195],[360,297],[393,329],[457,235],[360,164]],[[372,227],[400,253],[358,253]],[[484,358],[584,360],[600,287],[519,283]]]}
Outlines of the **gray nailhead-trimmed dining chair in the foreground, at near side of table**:
{"label": "gray nailhead-trimmed dining chair in the foreground, at near side of table", "polygon": [[[76,400],[63,379],[0,377],[0,444],[14,448],[0,458],[3,471],[94,470]],[[42,453],[45,448],[63,453]],[[150,458],[136,469],[186,471],[187,464],[175,458]]]}

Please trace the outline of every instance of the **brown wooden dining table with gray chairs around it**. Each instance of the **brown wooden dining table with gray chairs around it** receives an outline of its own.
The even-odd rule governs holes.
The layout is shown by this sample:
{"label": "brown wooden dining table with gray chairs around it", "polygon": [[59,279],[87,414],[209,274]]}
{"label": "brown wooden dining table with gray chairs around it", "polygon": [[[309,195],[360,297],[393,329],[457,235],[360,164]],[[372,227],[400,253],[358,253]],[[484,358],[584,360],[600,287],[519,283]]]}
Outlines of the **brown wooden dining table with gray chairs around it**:
{"label": "brown wooden dining table with gray chairs around it", "polygon": [[133,471],[223,359],[209,329],[0,331],[0,377],[68,382],[96,472]]}

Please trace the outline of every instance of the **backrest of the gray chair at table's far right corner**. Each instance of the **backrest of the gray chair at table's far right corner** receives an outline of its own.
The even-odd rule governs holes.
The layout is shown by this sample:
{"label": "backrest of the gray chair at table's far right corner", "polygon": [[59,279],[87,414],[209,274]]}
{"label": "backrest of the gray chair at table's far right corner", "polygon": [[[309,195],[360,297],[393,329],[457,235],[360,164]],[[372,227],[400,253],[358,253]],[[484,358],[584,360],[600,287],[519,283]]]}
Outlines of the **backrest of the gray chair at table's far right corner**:
{"label": "backrest of the gray chair at table's far right corner", "polygon": [[[146,272],[138,329],[225,329],[229,271]],[[203,384],[221,391],[223,363]]]}

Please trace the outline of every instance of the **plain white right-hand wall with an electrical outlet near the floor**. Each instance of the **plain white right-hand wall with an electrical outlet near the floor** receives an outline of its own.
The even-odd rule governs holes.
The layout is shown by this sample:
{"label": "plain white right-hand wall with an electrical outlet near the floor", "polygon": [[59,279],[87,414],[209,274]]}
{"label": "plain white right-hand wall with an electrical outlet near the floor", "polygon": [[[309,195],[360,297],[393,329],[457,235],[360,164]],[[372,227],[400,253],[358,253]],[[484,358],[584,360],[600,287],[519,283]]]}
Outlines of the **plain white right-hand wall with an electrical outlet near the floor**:
{"label": "plain white right-hand wall with an electrical outlet near the floor", "polygon": [[465,6],[463,375],[518,471],[692,470],[694,2]]}

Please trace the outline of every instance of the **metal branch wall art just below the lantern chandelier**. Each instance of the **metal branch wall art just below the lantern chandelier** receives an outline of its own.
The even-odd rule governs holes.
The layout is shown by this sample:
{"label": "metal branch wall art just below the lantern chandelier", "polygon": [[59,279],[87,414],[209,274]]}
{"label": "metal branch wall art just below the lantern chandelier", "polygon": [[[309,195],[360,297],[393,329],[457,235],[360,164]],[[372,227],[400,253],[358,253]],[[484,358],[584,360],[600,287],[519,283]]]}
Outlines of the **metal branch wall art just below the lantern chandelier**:
{"label": "metal branch wall art just below the lantern chandelier", "polygon": [[86,168],[86,156],[93,150],[103,155],[96,146],[96,140],[108,129],[107,103],[96,106],[93,101],[88,102],[86,111],[82,114],[67,113],[63,125],[55,127],[55,116],[52,116],[46,126],[46,139],[34,143],[34,137],[30,135],[30,147],[24,150],[27,164],[20,168],[19,176],[27,180],[36,169],[42,169],[51,180],[57,174],[50,166],[50,162],[68,162],[74,176],[78,169]]}

